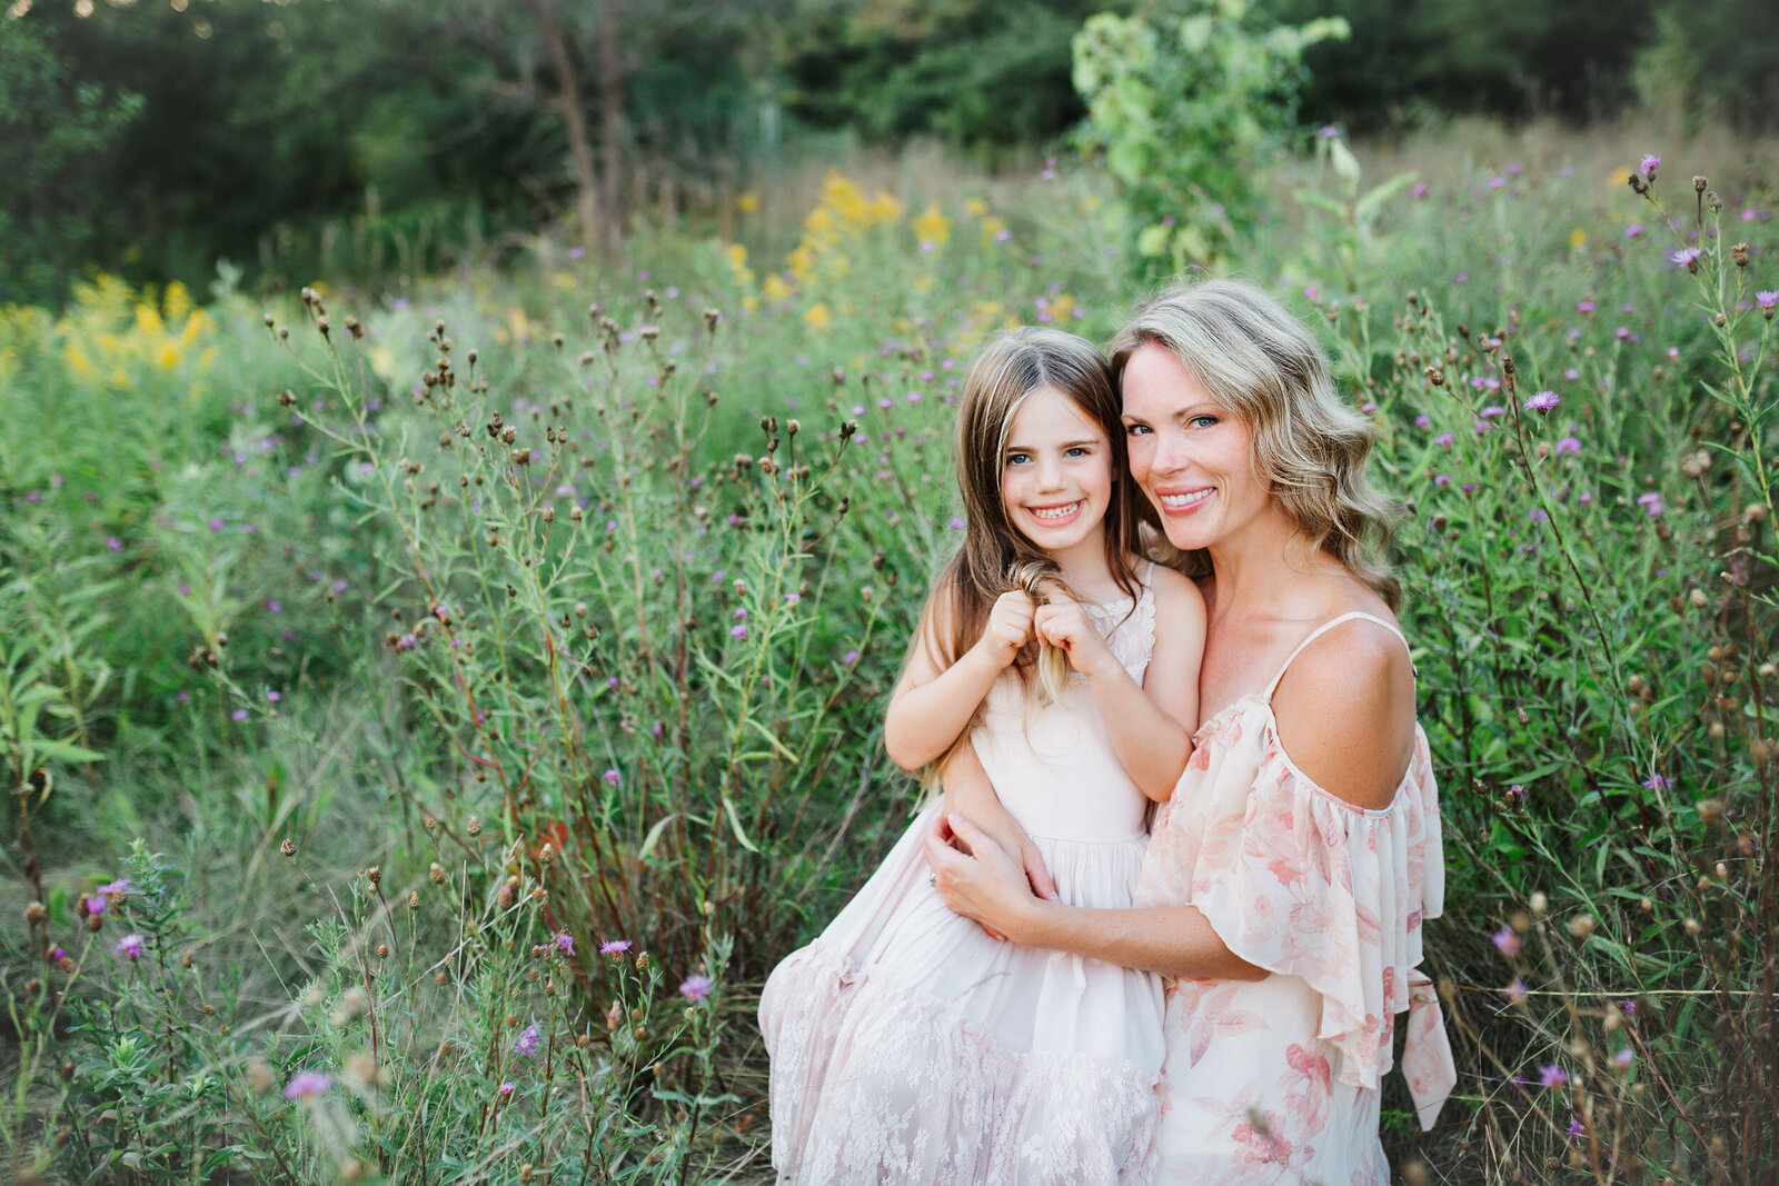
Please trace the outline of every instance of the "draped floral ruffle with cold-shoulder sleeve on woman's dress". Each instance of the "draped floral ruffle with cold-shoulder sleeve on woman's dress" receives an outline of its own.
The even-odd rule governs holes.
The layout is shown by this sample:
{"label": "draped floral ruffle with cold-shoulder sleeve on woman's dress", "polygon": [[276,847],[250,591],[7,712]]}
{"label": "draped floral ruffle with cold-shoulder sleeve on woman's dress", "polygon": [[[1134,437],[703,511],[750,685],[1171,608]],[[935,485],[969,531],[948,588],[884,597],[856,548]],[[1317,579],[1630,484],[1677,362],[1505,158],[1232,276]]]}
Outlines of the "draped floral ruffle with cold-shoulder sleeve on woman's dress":
{"label": "draped floral ruffle with cold-shoulder sleeve on woman's dress", "polygon": [[1155,823],[1140,900],[1192,903],[1235,955],[1302,978],[1320,996],[1316,1037],[1340,1053],[1341,1083],[1377,1088],[1391,1065],[1395,1015],[1416,1005],[1404,1070],[1416,1102],[1443,1099],[1455,1078],[1450,1047],[1418,971],[1421,925],[1445,898],[1427,738],[1416,727],[1389,807],[1364,811],[1309,781],[1279,745],[1265,704],[1254,709],[1201,731]]}

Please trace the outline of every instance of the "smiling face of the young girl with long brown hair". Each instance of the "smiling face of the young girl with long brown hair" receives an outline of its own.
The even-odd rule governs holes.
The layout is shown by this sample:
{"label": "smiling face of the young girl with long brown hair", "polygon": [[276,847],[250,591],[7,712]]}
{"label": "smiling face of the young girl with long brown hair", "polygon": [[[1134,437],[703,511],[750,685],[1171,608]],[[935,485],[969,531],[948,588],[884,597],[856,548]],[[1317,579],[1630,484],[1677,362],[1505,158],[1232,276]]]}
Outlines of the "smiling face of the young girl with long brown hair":
{"label": "smiling face of the young girl with long brown hair", "polygon": [[1002,453],[1007,521],[1050,555],[1101,544],[1112,505],[1112,443],[1075,400],[1037,388],[1007,430]]}

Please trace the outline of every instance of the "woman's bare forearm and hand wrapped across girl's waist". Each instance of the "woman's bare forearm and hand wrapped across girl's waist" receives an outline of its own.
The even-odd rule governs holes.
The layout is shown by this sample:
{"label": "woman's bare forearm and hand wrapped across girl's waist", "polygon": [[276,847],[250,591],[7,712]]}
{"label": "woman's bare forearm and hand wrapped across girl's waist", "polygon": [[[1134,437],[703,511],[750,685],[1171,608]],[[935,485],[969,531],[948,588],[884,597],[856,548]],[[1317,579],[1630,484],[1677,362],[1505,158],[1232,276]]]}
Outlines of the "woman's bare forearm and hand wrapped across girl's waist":
{"label": "woman's bare forearm and hand wrapped across girl's waist", "polygon": [[1204,914],[1190,905],[1092,910],[1039,902],[1026,893],[1012,857],[962,816],[938,820],[925,846],[945,903],[1021,946],[1073,951],[1167,976],[1267,976],[1231,953]]}

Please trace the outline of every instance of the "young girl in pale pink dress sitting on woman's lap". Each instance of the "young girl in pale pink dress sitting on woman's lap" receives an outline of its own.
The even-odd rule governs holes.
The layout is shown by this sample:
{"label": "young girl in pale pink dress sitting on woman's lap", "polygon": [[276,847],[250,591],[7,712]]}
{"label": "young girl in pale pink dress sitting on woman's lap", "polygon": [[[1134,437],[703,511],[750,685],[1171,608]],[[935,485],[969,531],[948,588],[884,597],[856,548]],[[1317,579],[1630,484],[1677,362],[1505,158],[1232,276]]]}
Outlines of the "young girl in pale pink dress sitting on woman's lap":
{"label": "young girl in pale pink dress sitting on woman's lap", "polygon": [[[907,770],[971,745],[1000,797],[948,805],[1019,853],[1037,893],[1128,907],[1149,800],[1192,752],[1204,603],[1135,555],[1101,354],[1046,329],[989,345],[964,386],[957,471],[964,544],[922,613],[884,743]],[[1073,672],[1041,676],[1039,651]],[[1146,1182],[1160,978],[952,914],[922,861],[945,807],[925,807],[767,980],[779,1181]]]}

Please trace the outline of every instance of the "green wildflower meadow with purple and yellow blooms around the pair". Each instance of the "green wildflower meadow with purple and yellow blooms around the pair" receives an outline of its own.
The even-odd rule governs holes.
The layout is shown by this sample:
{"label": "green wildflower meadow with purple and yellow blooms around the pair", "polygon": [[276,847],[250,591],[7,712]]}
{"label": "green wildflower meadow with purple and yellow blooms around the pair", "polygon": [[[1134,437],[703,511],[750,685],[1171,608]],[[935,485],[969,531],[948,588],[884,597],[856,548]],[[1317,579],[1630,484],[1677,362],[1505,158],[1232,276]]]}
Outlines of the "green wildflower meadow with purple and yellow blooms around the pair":
{"label": "green wildflower meadow with purple and yellow blooms around the pair", "polygon": [[[1770,1181],[1779,144],[1331,144],[1217,268],[1405,509],[1461,1078],[1386,1145]],[[621,256],[0,309],[20,1181],[770,1181],[758,987],[920,797],[950,404],[1000,327],[1119,325],[1117,199],[850,155]]]}

